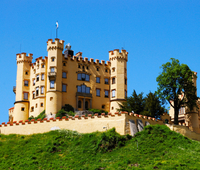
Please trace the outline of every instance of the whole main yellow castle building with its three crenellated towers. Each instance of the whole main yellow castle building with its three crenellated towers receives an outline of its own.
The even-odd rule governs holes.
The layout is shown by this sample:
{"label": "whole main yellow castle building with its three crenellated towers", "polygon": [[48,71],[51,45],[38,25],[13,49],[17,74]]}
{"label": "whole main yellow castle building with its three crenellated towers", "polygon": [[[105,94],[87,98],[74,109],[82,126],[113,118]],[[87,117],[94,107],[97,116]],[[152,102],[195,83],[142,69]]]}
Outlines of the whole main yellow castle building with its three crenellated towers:
{"label": "whole main yellow castle building with its three crenellated towers", "polygon": [[[64,53],[63,53],[64,51]],[[48,57],[16,55],[17,78],[13,91],[14,107],[9,109],[9,121],[25,121],[30,116],[56,114],[65,104],[75,111],[89,108],[115,113],[118,103],[127,95],[128,52],[109,51],[109,61],[75,56],[70,45],[58,38],[47,41]]]}

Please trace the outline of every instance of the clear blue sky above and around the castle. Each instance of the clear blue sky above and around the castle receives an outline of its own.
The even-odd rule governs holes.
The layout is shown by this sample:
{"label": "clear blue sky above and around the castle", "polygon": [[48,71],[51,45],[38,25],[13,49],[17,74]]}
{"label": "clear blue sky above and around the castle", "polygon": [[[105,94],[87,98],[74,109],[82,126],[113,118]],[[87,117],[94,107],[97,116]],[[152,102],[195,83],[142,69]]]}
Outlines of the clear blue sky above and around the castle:
{"label": "clear blue sky above and around the castle", "polygon": [[154,92],[160,66],[170,58],[200,74],[200,1],[1,0],[0,6],[0,123],[15,102],[16,54],[47,56],[56,21],[58,38],[83,57],[107,61],[110,50],[129,52],[128,96],[134,89]]}

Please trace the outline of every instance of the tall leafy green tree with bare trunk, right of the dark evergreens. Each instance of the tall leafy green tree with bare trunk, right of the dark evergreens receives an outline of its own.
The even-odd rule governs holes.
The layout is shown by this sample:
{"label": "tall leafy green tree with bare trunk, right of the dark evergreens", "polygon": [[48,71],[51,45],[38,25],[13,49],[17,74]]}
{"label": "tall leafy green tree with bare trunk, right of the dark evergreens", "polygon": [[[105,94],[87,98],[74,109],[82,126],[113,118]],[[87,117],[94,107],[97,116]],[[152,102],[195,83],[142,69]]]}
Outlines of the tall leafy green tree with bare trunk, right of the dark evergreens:
{"label": "tall leafy green tree with bare trunk, right of the dark evergreens", "polygon": [[[178,124],[178,113],[180,107],[187,106],[193,110],[198,97],[194,86],[194,72],[186,64],[180,64],[179,60],[171,58],[161,66],[162,73],[157,77],[158,96],[168,101],[174,108],[174,124]],[[173,102],[172,102],[173,101]]]}

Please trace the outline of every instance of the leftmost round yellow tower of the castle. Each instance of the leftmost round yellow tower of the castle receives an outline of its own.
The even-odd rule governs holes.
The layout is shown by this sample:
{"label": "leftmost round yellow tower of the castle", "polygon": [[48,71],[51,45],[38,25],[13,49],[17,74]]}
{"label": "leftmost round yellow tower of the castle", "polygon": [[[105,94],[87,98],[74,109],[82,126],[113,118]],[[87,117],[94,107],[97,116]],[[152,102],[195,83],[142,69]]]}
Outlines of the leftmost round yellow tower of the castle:
{"label": "leftmost round yellow tower of the castle", "polygon": [[30,64],[32,58],[32,54],[26,56],[26,53],[17,54],[16,56],[17,80],[13,121],[25,121],[29,116]]}

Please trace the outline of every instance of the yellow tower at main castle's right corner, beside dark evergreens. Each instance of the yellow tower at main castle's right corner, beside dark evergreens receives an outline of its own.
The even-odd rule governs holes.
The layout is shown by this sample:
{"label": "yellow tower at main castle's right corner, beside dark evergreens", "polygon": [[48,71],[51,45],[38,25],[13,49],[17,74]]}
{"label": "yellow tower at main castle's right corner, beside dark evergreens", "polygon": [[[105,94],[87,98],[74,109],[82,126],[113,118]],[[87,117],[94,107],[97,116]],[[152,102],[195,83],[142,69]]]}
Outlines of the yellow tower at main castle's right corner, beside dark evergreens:
{"label": "yellow tower at main castle's right corner, beside dark evergreens", "polygon": [[119,104],[125,101],[127,96],[127,60],[128,52],[118,49],[109,51],[111,62],[110,76],[110,112],[115,113]]}

